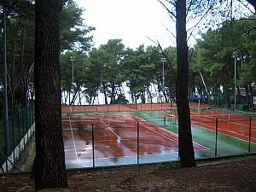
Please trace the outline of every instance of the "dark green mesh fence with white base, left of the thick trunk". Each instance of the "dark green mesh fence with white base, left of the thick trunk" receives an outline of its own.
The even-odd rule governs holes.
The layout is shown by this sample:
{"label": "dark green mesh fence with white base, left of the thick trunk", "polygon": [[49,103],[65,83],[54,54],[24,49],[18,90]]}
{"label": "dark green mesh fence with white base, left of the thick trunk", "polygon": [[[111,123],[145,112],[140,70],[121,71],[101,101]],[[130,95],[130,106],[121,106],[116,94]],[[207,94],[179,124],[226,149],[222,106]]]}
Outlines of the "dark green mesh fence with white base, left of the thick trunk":
{"label": "dark green mesh fence with white base, left of the thick trunk", "polygon": [[34,103],[9,116],[9,129],[0,122],[0,172],[10,172],[16,166],[26,145],[34,136]]}

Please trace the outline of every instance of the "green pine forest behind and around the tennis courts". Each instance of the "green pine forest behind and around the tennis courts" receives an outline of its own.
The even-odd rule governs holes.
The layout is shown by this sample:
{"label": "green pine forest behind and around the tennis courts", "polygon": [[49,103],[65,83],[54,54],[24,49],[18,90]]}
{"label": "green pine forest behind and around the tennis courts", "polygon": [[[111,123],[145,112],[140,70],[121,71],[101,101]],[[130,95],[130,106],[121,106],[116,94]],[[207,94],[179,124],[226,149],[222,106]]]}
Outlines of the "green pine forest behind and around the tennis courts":
{"label": "green pine forest behind and around the tennis courts", "polygon": [[[26,107],[34,97],[34,5],[17,3],[7,20],[7,61],[9,109]],[[109,39],[108,44],[93,48],[93,26],[82,19],[84,9],[72,0],[61,12],[61,89],[66,104],[75,99],[93,104],[99,92],[105,103],[127,102],[122,83],[130,88],[133,103],[140,99],[151,102],[159,92],[160,102],[175,100],[177,77],[176,47],[162,49],[159,45],[138,45],[130,49],[122,39]],[[253,108],[256,82],[255,16],[240,20],[224,20],[217,28],[201,33],[193,47],[189,47],[189,97],[191,100],[212,98],[230,107],[234,103],[234,58],[236,52],[237,102]],[[3,46],[2,44],[0,46]],[[71,56],[74,57],[73,65]],[[162,87],[162,59],[165,58],[165,87]],[[72,69],[73,67],[73,69]],[[67,96],[73,99],[67,102]],[[148,98],[148,101],[146,101]],[[108,100],[109,99],[109,100]],[[108,102],[110,101],[110,102]],[[2,102],[2,100],[1,100]],[[2,105],[2,104],[1,104]]]}

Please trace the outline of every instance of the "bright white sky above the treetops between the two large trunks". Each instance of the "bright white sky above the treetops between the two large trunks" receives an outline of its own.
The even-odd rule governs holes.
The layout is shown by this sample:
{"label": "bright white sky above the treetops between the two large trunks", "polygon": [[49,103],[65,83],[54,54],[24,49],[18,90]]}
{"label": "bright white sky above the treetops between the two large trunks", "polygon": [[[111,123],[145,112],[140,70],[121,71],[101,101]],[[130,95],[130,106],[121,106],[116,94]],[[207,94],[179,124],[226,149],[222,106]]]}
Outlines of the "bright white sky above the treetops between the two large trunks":
{"label": "bright white sky above the treetops between the two large trunks", "polygon": [[[95,47],[107,44],[108,39],[121,38],[125,47],[155,45],[148,38],[158,40],[163,48],[175,46],[172,34],[175,24],[157,0],[77,0],[85,9],[86,25],[96,27],[92,32]],[[147,38],[148,37],[148,38]]]}

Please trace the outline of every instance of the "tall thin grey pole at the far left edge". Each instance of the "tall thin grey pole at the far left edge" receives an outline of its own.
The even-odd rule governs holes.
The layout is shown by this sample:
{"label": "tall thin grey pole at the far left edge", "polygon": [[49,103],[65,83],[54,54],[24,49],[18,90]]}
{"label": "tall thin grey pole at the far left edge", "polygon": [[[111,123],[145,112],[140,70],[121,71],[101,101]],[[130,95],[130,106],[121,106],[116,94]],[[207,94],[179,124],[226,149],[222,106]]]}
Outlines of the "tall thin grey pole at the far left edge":
{"label": "tall thin grey pole at the far left edge", "polygon": [[8,119],[8,97],[7,97],[7,61],[6,61],[6,0],[3,1],[2,37],[3,37],[3,118],[5,152],[9,156],[9,119]]}

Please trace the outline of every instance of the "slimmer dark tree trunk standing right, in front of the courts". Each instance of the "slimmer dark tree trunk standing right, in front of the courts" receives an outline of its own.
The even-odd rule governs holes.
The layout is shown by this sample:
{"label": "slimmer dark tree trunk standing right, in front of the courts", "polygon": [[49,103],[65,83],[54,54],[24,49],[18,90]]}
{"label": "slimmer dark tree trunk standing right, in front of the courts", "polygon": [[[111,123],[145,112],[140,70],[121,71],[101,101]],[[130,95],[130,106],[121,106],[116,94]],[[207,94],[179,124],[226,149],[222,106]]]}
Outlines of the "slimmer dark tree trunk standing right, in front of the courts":
{"label": "slimmer dark tree trunk standing right, in front of the courts", "polygon": [[176,3],[178,154],[181,166],[195,166],[188,99],[189,63],[186,1]]}

